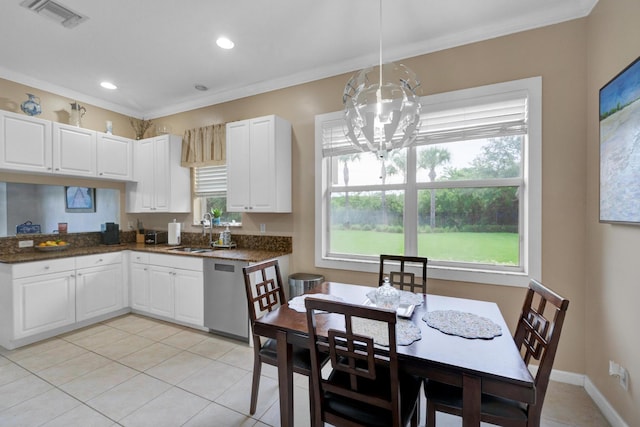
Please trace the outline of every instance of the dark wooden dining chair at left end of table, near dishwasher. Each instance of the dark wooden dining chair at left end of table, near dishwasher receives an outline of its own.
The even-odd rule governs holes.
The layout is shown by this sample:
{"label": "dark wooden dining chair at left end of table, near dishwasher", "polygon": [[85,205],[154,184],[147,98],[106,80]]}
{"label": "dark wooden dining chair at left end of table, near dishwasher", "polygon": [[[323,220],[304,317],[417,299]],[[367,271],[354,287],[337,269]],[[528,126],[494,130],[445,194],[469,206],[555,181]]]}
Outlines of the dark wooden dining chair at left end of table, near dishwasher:
{"label": "dark wooden dining chair at left end of table, near dishwasher", "polygon": [[[249,304],[249,318],[253,335],[253,382],[251,384],[251,406],[249,412],[256,412],[258,403],[258,389],[260,387],[260,373],[262,364],[277,366],[278,355],[276,340],[261,337],[254,332],[254,323],[265,313],[273,311],[286,302],[280,265],[277,260],[265,261],[243,267],[245,290]],[[309,350],[293,347],[293,371],[311,378],[311,358]],[[311,386],[309,386],[311,390]],[[313,413],[313,399],[310,397],[311,412]]]}

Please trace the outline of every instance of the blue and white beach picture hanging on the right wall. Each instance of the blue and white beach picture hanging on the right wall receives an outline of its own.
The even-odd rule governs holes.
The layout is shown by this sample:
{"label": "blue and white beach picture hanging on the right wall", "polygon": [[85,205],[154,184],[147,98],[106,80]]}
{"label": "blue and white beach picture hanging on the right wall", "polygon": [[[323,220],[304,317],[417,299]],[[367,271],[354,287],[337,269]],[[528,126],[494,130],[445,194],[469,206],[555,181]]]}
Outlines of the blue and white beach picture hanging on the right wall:
{"label": "blue and white beach picture hanging on the right wall", "polygon": [[600,89],[600,222],[640,225],[640,57]]}

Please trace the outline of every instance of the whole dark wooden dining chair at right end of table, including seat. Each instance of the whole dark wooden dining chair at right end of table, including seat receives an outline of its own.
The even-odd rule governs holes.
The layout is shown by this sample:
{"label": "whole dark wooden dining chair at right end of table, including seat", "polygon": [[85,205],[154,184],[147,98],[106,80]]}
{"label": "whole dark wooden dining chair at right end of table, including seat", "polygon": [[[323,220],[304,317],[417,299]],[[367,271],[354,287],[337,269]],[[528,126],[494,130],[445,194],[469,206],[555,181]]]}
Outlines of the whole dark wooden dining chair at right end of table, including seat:
{"label": "whole dark wooden dining chair at right end of table, including seat", "polygon": [[[522,313],[514,334],[516,346],[528,366],[538,361],[534,378],[535,404],[524,404],[489,394],[482,394],[481,420],[507,427],[538,427],[544,396],[549,385],[553,360],[569,300],[542,283],[531,280]],[[462,414],[462,389],[435,381],[426,381],[427,426],[435,426],[436,411]]]}

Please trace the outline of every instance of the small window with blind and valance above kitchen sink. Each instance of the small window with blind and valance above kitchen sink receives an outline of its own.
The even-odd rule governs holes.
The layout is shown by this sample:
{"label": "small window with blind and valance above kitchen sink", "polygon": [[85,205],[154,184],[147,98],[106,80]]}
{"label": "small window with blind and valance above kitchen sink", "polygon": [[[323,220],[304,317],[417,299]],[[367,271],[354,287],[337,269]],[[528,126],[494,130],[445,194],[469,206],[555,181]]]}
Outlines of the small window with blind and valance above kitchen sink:
{"label": "small window with blind and valance above kitchen sink", "polygon": [[227,167],[201,166],[193,168],[194,223],[199,224],[205,213],[220,209],[221,223],[241,222],[239,212],[227,212]]}

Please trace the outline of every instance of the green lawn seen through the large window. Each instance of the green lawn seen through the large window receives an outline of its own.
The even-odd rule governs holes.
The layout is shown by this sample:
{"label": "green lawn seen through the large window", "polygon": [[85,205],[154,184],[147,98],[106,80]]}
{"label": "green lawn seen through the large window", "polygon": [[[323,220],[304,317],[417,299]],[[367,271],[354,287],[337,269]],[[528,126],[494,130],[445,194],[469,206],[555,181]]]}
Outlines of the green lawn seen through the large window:
{"label": "green lawn seen through the large window", "polygon": [[[331,252],[360,255],[402,254],[404,236],[360,230],[332,230]],[[518,265],[516,233],[422,233],[419,256],[434,260]]]}

